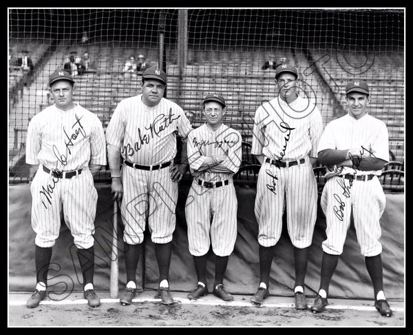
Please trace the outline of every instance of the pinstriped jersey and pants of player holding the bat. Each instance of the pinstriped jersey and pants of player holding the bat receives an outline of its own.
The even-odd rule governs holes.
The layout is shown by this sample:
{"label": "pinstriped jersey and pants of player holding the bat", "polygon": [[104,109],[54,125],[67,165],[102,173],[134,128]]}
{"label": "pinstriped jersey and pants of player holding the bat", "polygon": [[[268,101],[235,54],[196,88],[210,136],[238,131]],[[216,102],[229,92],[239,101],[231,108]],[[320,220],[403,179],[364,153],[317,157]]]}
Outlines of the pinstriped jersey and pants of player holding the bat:
{"label": "pinstriped jersey and pants of player holding the bat", "polygon": [[148,219],[153,243],[168,243],[176,225],[178,182],[171,180],[169,167],[141,170],[125,161],[151,167],[173,163],[176,134],[191,132],[191,123],[179,105],[162,98],[158,105],[142,103],[142,94],[120,101],[106,130],[107,143],[120,149],[123,157],[123,200],[120,205],[125,224],[124,241],[143,241]]}

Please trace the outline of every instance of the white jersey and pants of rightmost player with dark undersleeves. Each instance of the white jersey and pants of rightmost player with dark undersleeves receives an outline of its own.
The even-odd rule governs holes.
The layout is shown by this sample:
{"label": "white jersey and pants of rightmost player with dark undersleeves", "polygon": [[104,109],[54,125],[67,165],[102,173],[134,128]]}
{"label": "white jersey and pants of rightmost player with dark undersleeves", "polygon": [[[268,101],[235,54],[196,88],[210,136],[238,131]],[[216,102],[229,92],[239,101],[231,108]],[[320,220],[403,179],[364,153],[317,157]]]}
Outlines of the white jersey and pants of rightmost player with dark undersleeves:
{"label": "white jersey and pants of rightmost player with dark undersleeves", "polygon": [[[389,161],[388,130],[385,123],[369,114],[359,120],[347,114],[328,123],[321,136],[318,151],[350,148],[362,148],[361,160],[363,156],[374,155],[378,159]],[[355,175],[356,178],[370,175],[372,179],[350,180],[343,178],[346,174]],[[361,254],[376,256],[381,253],[379,219],[385,208],[385,195],[377,178],[380,175],[381,170],[360,171],[354,165],[343,167],[339,176],[332,176],[326,181],[321,194],[321,209],[326,215],[327,224],[327,239],[322,243],[324,252],[335,255],[343,252],[352,210]]]}

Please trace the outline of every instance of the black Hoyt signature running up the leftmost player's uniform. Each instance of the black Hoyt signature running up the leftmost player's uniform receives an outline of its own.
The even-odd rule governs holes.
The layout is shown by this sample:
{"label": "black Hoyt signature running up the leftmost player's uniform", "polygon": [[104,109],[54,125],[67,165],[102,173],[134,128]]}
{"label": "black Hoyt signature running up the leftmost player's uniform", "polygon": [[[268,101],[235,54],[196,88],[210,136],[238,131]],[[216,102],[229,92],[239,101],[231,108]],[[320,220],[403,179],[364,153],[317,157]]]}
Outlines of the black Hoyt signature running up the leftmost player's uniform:
{"label": "black Hoyt signature running up the leftmost player's uniform", "polygon": [[[54,169],[52,169],[52,171],[54,172],[55,176],[52,177],[52,183],[47,183],[46,187],[44,185],[42,185],[41,187],[41,197],[44,198],[45,200],[47,200],[47,202],[52,205],[52,202],[50,201],[50,199],[52,199],[51,194],[53,193],[54,187],[56,187],[56,183],[59,182],[59,176],[61,176],[61,174],[63,174],[63,170],[60,170],[57,165],[59,163],[61,163],[62,165],[66,166],[67,165],[67,158],[70,154],[72,154],[72,152],[70,151],[70,147],[72,147],[74,145],[73,141],[75,141],[79,134],[81,134],[84,138],[86,137],[86,132],[85,129],[83,128],[82,124],[81,124],[81,119],[83,118],[83,116],[81,116],[80,118],[77,116],[77,114],[74,114],[74,116],[76,117],[76,122],[73,123],[72,125],[72,129],[74,127],[77,126],[77,128],[75,128],[72,132],[72,134],[70,134],[70,136],[67,134],[65,127],[63,127],[63,132],[65,133],[65,136],[67,137],[67,139],[69,141],[65,141],[65,147],[66,147],[66,152],[65,154],[61,154],[59,152],[59,149],[56,147],[56,145],[53,145],[53,153],[54,156],[56,156],[56,159],[58,161],[58,163],[56,163],[56,167],[54,167]],[[45,206],[46,210],[47,210],[47,205],[45,204],[45,202],[42,200],[41,203],[43,203],[43,206]]]}

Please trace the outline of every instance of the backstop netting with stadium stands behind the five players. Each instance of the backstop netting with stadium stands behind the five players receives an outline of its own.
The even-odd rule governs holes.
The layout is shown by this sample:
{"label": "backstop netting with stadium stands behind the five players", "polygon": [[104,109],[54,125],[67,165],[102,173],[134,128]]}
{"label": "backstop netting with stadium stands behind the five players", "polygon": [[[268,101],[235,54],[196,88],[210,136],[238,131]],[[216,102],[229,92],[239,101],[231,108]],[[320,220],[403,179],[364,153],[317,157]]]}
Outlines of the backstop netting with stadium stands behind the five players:
{"label": "backstop netting with stadium stands behind the five players", "polygon": [[[140,93],[142,71],[125,64],[141,54],[167,72],[167,98],[194,127],[204,122],[202,98],[222,94],[224,122],[245,143],[255,110],[277,96],[280,63],[299,70],[299,94],[317,105],[324,125],[346,113],[347,81],[368,81],[369,113],[388,126],[390,160],[404,162],[404,28],[403,9],[9,8],[9,181],[28,181],[28,123],[53,103],[52,72],[71,58],[78,64],[74,101],[105,129],[119,101]],[[23,56],[32,60],[28,70]],[[96,176],[108,179],[107,169]]]}

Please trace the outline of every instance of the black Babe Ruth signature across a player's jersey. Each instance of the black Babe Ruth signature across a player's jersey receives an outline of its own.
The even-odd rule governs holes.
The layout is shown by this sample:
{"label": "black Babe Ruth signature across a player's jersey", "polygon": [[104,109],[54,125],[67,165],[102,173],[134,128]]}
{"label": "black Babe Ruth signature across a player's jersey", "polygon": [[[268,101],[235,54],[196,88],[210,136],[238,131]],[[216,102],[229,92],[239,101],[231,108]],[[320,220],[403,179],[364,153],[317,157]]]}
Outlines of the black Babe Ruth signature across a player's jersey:
{"label": "black Babe Ruth signature across a player's jersey", "polygon": [[144,127],[145,130],[150,131],[147,134],[142,134],[142,130],[138,128],[139,140],[136,141],[134,145],[131,145],[130,143],[124,145],[121,153],[125,154],[126,156],[133,156],[136,151],[139,151],[142,148],[142,145],[148,144],[155,136],[159,137],[160,132],[167,129],[169,125],[173,123],[173,121],[180,118],[180,115],[175,117],[174,115],[175,114],[172,113],[172,108],[170,108],[169,114],[165,115],[162,113],[156,116],[152,123]]}

